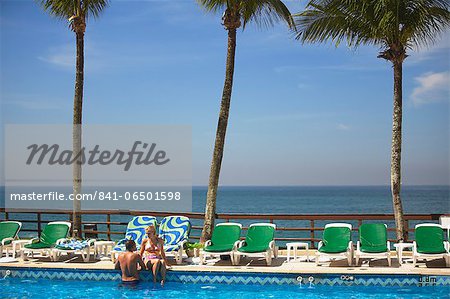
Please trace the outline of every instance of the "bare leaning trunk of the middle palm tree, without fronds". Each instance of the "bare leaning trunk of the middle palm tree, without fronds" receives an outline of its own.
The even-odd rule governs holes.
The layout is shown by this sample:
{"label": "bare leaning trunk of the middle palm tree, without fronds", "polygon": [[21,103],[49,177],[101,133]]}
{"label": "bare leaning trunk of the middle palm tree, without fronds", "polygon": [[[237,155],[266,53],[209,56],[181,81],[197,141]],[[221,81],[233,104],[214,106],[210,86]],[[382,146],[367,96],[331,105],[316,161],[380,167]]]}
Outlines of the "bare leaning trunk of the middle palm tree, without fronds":
{"label": "bare leaning trunk of the middle palm tree, without fronds", "polygon": [[230,111],[231,91],[233,88],[234,58],[236,54],[236,29],[228,29],[227,65],[222,101],[220,103],[219,122],[217,124],[216,141],[209,174],[208,193],[206,195],[205,222],[203,224],[201,242],[211,239],[214,219],[216,217],[217,188],[219,185],[220,167],[222,165],[223,148]]}

